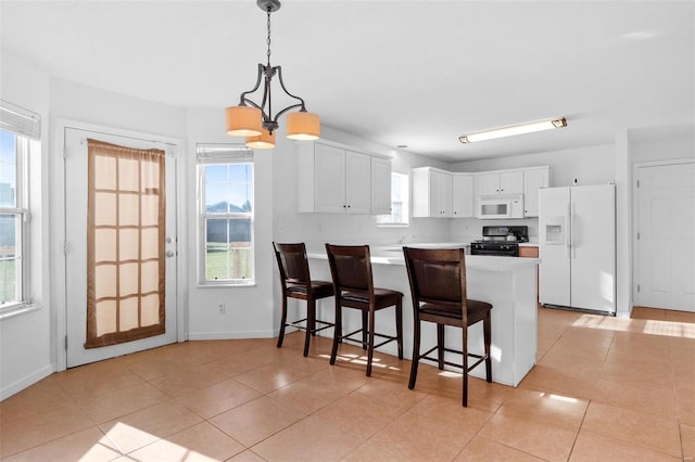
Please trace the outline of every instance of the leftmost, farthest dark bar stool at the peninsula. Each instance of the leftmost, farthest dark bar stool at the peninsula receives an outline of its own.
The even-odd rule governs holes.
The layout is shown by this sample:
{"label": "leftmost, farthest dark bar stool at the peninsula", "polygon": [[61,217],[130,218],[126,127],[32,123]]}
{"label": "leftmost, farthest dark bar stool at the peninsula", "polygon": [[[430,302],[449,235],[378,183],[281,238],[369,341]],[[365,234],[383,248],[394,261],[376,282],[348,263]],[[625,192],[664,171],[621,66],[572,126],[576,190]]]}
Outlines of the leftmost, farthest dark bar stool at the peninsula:
{"label": "leftmost, farthest dark bar stool at the peninsula", "polygon": [[[278,244],[274,242],[273,248],[275,249],[275,257],[278,260],[280,286],[282,287],[282,318],[280,320],[278,348],[282,346],[282,341],[285,339],[285,328],[295,328],[306,332],[304,338],[304,356],[307,356],[312,336],[316,335],[319,331],[334,325],[332,322],[316,319],[316,300],[331,297],[333,295],[333,284],[328,281],[312,281],[304,243]],[[306,300],[306,318],[288,322],[288,298]],[[316,328],[316,324],[320,324],[320,326]]]}

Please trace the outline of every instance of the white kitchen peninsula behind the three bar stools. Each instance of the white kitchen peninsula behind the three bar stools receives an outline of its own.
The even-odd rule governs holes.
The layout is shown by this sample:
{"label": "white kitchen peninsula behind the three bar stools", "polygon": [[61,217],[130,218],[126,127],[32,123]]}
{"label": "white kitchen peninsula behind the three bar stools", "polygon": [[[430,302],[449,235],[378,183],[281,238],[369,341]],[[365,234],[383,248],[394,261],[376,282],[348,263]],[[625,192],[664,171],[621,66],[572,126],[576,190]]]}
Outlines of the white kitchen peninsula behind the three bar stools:
{"label": "white kitchen peninsula behind the three bar stools", "polygon": [[[446,245],[440,245],[440,247],[443,248]],[[404,355],[406,358],[412,358],[413,301],[403,251],[396,246],[372,246],[370,249],[375,286],[397,290],[405,295],[403,300]],[[309,247],[308,258],[312,279],[330,281],[331,275],[326,252],[319,247]],[[517,386],[535,364],[538,346],[536,267],[539,262],[538,258],[466,255],[468,298],[484,300],[493,305],[492,378],[504,385]],[[321,313],[324,318],[332,316],[332,303],[330,298],[323,301]],[[392,313],[377,313],[377,332],[394,332],[392,324]],[[343,311],[344,332],[359,329],[359,325],[361,317],[358,315]],[[460,330],[453,328],[446,328],[446,330],[447,346],[459,348],[462,345]],[[425,323],[421,335],[424,349],[437,344],[437,331],[433,324]],[[482,324],[478,323],[469,328],[468,335],[469,351],[482,354]],[[381,351],[395,355],[395,347],[387,345],[382,347]],[[377,365],[375,364],[375,367]],[[484,368],[473,369],[470,375],[484,378]]]}

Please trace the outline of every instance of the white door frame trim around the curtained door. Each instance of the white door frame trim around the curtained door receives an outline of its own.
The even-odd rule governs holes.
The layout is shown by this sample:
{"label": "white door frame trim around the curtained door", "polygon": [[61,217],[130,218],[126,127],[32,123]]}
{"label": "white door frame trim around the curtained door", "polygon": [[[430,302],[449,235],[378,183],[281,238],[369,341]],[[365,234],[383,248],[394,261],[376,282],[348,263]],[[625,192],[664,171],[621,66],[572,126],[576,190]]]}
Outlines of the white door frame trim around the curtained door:
{"label": "white door frame trim around the curtained door", "polygon": [[[188,306],[185,304],[186,290],[182,287],[182,281],[186,281],[187,252],[186,248],[186,220],[181,219],[181,214],[186,210],[186,176],[181,162],[181,153],[184,142],[178,138],[166,137],[162,134],[153,134],[135,130],[127,130],[105,125],[85,123],[67,118],[55,118],[53,124],[53,149],[50,156],[50,175],[51,178],[51,196],[50,196],[50,228],[54,232],[49,233],[45,239],[49,240],[49,248],[51,248],[50,259],[50,285],[52,300],[51,316],[51,345],[55,346],[55,355],[53,357],[54,370],[64,371],[67,368],[67,355],[65,348],[65,338],[67,335],[67,287],[65,278],[65,131],[67,129],[92,131],[96,133],[110,134],[116,137],[137,138],[140,140],[151,141],[172,149],[173,155],[177,161],[176,168],[176,235],[178,239],[177,246],[177,265],[176,265],[176,342],[185,342],[188,339]],[[60,274],[60,277],[59,277]]]}

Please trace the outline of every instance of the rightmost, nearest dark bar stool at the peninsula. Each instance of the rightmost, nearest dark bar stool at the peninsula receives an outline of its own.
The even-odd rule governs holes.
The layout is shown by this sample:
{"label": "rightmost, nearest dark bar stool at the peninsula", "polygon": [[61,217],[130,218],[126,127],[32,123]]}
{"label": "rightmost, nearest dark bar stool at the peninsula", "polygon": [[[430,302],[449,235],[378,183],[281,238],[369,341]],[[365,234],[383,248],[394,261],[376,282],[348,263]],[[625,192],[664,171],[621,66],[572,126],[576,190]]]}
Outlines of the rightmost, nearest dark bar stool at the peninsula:
{"label": "rightmost, nearest dark bar stool at the peninsula", "polygon": [[[410,281],[413,295],[413,313],[415,317],[413,331],[413,363],[408,388],[415,388],[417,365],[420,359],[437,362],[440,370],[444,364],[463,370],[463,405],[468,406],[468,372],[481,362],[485,362],[485,378],[492,382],[492,360],[490,358],[490,343],[492,323],[490,311],[492,305],[485,301],[466,297],[466,261],[463,248],[412,248],[403,247],[405,264]],[[420,354],[420,322],[428,321],[437,324],[437,345]],[[484,355],[468,352],[468,326],[479,321],[483,322]],[[463,349],[446,348],[444,343],[444,326],[462,328]],[[437,358],[429,356],[437,350]],[[448,362],[445,352],[463,356],[462,364]],[[468,357],[478,359],[468,365]]]}

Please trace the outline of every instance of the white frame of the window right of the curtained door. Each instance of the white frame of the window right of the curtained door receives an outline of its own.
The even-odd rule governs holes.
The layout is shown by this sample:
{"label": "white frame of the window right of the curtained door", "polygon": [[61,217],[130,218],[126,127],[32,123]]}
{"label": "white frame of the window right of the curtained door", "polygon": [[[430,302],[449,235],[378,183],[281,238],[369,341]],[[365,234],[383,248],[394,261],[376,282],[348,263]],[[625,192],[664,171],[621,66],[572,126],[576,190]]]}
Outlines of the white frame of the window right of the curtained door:
{"label": "white frame of the window right of the curtained door", "polygon": [[[198,144],[197,145],[197,176],[198,176],[198,285],[201,287],[249,287],[256,285],[255,265],[255,163],[253,150],[243,144]],[[205,167],[210,165],[250,164],[251,171],[251,210],[248,213],[229,211],[210,213],[205,207]],[[250,220],[250,255],[251,278],[249,279],[207,279],[207,222],[213,219],[249,219]]]}

